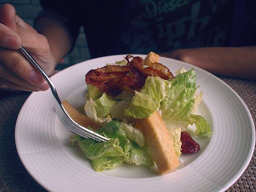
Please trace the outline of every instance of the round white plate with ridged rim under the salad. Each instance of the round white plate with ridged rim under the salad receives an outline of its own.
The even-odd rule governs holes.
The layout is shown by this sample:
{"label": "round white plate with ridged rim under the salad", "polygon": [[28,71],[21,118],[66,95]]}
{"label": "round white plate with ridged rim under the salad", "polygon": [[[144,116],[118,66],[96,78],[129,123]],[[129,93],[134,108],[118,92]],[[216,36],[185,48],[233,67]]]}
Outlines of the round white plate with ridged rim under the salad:
{"label": "round white plate with ridged rim under the salad", "polygon": [[[136,54],[134,54],[136,55]],[[145,55],[139,55],[145,57]],[[84,103],[85,77],[90,69],[123,58],[114,55],[84,61],[52,76],[61,100],[75,107]],[[193,66],[160,58],[172,72]],[[212,137],[198,139],[197,154],[182,155],[179,168],[157,175],[143,166],[120,166],[95,172],[82,152],[70,144],[72,135],[58,121],[51,92],[32,93],[23,105],[15,128],[20,160],[29,174],[49,191],[224,191],[244,172],[253,155],[255,129],[241,98],[223,81],[194,67],[203,90],[198,113],[212,127]]]}

